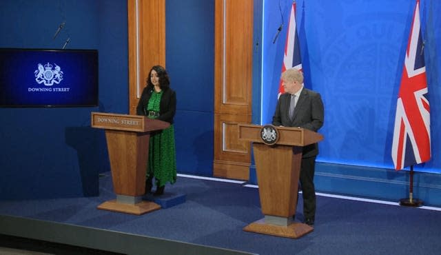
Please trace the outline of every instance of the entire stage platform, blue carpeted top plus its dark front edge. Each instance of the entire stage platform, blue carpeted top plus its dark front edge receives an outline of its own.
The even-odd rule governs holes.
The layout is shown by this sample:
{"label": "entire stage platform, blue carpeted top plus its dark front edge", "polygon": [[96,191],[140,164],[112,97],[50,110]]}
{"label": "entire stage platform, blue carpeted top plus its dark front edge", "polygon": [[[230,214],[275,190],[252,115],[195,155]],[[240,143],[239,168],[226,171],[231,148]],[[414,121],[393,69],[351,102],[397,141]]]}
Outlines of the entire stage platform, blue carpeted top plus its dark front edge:
{"label": "entire stage platform, blue carpeted top plus its dark front edge", "polygon": [[[320,194],[313,232],[298,239],[245,232],[263,218],[258,189],[246,184],[180,175],[165,192],[185,194],[183,203],[136,216],[96,209],[115,197],[106,173],[99,196],[0,201],[0,234],[117,254],[433,254],[441,249],[439,208]],[[299,208],[296,221],[302,221]],[[399,245],[415,241],[418,245],[405,249]]]}

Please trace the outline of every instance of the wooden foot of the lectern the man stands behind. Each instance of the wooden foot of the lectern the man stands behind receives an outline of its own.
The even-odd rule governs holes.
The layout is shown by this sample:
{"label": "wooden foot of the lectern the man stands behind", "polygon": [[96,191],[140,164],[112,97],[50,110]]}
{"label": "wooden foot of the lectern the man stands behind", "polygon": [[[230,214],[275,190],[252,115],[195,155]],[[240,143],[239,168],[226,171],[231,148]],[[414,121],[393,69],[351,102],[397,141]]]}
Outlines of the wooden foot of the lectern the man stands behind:
{"label": "wooden foot of the lectern the man stands behind", "polygon": [[308,234],[314,230],[314,227],[303,223],[291,223],[288,226],[280,226],[265,223],[265,220],[262,218],[258,221],[254,221],[247,225],[247,227],[243,228],[244,231],[247,232],[255,232],[260,234],[270,234],[272,236],[282,236],[287,238],[299,238]]}

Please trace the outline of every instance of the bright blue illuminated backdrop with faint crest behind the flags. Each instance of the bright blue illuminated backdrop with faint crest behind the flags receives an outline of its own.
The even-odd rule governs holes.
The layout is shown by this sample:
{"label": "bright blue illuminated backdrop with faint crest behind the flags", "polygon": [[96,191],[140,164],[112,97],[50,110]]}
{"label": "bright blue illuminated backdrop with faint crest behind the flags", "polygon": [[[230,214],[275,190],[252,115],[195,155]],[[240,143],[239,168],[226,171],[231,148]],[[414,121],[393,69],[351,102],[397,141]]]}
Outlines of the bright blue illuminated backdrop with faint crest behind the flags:
{"label": "bright blue illuminated backdrop with faint crest behind the flags", "polygon": [[[305,85],[320,92],[325,125],[319,161],[393,168],[391,143],[404,54],[415,0],[297,1],[300,52]],[[265,1],[263,32],[263,123],[276,106],[290,0]],[[416,167],[441,172],[440,104],[441,3],[422,0],[422,35],[426,41],[432,159]]]}

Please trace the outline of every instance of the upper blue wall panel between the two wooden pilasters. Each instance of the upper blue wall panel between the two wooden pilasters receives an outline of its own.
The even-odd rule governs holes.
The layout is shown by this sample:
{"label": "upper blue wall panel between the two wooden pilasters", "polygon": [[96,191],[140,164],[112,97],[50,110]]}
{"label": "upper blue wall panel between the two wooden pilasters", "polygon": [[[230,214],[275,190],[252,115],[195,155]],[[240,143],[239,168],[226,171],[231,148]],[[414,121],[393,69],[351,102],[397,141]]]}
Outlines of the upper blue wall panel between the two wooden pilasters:
{"label": "upper blue wall panel between the two wooden pilasters", "polygon": [[214,1],[166,1],[166,65],[178,110],[213,112]]}

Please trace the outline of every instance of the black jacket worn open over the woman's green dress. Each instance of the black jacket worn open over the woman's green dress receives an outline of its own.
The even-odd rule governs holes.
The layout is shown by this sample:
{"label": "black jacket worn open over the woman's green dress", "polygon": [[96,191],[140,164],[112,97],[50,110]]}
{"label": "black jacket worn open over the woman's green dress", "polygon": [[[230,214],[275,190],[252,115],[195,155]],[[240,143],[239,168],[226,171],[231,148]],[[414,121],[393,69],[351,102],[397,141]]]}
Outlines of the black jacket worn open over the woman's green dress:
{"label": "black jacket worn open over the woman's green dress", "polygon": [[[147,86],[143,90],[143,94],[141,94],[141,99],[139,99],[138,106],[136,107],[136,114],[138,115],[147,115],[145,112],[145,108],[149,103],[150,96],[152,96],[154,88]],[[176,92],[171,88],[167,88],[163,92],[163,96],[161,97],[161,102],[159,103],[159,116],[158,120],[167,121],[170,124],[173,124],[173,117],[176,113]]]}

